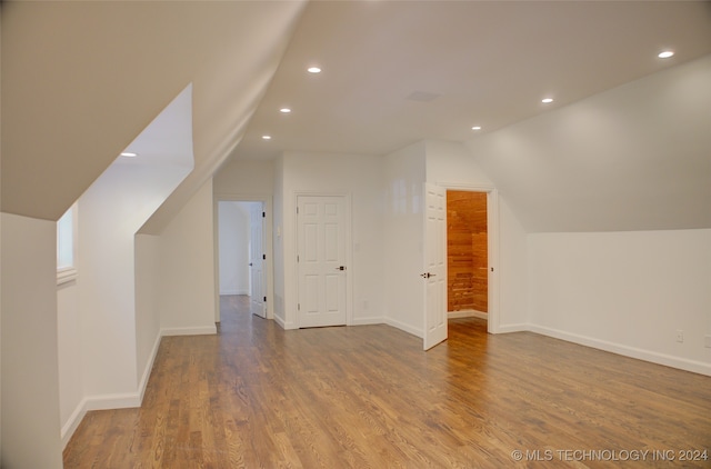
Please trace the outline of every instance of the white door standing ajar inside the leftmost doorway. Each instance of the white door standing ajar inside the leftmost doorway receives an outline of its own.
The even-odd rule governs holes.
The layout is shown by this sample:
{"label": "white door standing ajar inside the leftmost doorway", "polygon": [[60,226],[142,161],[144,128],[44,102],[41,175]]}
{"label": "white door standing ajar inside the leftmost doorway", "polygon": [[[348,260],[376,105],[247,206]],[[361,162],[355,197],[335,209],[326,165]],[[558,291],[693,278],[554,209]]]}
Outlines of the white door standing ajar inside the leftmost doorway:
{"label": "white door standing ajar inside the leftmost doorway", "polygon": [[250,311],[267,318],[267,290],[264,288],[264,211],[259,202],[250,203],[249,283]]}

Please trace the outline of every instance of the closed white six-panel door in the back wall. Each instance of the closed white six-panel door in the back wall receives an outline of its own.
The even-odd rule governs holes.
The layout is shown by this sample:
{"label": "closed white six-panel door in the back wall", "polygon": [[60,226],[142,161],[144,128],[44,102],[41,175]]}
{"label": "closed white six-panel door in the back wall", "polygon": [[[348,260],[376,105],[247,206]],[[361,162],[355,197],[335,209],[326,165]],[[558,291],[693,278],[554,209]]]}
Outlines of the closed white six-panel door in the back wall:
{"label": "closed white six-panel door in the back wall", "polygon": [[300,328],[346,325],[346,200],[298,196]]}

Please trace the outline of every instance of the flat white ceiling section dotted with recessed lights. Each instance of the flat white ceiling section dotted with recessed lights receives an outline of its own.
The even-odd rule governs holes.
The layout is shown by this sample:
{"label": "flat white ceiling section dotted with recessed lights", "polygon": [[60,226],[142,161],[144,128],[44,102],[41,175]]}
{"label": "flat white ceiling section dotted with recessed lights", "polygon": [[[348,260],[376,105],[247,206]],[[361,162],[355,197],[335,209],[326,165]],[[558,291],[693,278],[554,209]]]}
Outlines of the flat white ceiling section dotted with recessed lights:
{"label": "flat white ceiling section dotted with recessed lights", "polygon": [[709,53],[710,2],[314,1],[232,158],[467,141]]}

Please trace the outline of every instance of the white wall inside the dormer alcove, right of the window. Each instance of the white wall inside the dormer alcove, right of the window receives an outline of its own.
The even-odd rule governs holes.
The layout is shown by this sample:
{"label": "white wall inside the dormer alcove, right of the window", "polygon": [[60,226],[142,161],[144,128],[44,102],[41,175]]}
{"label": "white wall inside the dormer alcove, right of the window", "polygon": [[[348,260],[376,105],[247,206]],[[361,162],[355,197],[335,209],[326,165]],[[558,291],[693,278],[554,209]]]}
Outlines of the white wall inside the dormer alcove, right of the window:
{"label": "white wall inside the dormer alcove, right of the window", "polygon": [[189,171],[117,160],[79,199],[82,376],[92,408],[140,403],[134,234]]}

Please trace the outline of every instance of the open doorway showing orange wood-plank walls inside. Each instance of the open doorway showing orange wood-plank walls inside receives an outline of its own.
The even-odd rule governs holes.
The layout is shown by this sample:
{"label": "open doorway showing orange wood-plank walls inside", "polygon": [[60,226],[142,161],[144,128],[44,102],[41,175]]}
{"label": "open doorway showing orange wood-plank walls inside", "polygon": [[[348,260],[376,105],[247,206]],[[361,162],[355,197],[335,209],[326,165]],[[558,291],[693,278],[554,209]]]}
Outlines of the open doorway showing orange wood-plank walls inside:
{"label": "open doorway showing orange wood-plank walls inside", "polygon": [[489,319],[488,193],[447,191],[449,318]]}

